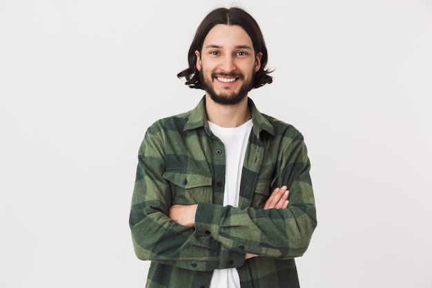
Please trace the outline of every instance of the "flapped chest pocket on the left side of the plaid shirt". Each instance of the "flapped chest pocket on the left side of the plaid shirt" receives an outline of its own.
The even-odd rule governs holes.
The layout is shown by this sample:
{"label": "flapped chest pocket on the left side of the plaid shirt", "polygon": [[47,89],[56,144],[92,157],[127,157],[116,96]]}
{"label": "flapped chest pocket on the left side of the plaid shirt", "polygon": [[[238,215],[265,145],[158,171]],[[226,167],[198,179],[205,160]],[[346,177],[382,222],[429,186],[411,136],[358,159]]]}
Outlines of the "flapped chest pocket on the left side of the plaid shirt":
{"label": "flapped chest pocket on the left side of the plaid shirt", "polygon": [[166,171],[162,177],[170,184],[171,204],[213,202],[211,176],[195,171]]}

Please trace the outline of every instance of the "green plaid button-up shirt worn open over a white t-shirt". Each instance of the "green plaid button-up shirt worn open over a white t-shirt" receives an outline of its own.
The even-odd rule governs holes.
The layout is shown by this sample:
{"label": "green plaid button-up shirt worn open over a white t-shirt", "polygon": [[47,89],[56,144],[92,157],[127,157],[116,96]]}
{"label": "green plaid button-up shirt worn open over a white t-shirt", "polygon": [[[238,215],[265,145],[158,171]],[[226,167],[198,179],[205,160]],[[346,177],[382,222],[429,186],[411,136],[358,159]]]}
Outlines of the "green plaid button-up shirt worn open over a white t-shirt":
{"label": "green plaid button-up shirt worn open over a white t-shirt", "polygon": [[[253,128],[238,207],[222,205],[225,150],[208,127],[205,98],[148,128],[130,210],[135,253],[151,260],[146,287],[208,288],[214,269],[232,267],[242,287],[299,287],[293,258],[317,224],[306,146],[293,126],[248,104]],[[262,209],[284,184],[288,208]],[[168,218],[173,204],[198,204],[195,228]],[[246,252],[258,257],[244,260]]]}

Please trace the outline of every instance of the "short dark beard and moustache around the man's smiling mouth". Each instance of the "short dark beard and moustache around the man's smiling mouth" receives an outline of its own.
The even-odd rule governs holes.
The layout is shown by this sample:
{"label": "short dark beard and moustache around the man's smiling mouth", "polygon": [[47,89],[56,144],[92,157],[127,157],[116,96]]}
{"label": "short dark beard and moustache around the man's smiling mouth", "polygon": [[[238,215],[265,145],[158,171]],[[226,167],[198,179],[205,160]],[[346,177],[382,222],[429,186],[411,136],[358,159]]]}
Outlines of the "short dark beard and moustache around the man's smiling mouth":
{"label": "short dark beard and moustache around the man's smiling mouth", "polygon": [[199,79],[201,80],[201,83],[204,86],[204,90],[206,90],[206,93],[210,95],[210,98],[217,104],[221,105],[235,105],[248,95],[248,92],[253,88],[253,80],[255,79],[255,70],[252,71],[252,77],[249,79],[249,81],[244,82],[242,87],[240,87],[240,90],[238,93],[221,93],[217,94],[215,89],[213,88],[213,79],[217,76],[223,76],[223,77],[235,77],[238,79],[244,79],[244,76],[238,73],[212,73],[210,75],[210,79],[208,77],[203,76],[203,73],[199,73]]}

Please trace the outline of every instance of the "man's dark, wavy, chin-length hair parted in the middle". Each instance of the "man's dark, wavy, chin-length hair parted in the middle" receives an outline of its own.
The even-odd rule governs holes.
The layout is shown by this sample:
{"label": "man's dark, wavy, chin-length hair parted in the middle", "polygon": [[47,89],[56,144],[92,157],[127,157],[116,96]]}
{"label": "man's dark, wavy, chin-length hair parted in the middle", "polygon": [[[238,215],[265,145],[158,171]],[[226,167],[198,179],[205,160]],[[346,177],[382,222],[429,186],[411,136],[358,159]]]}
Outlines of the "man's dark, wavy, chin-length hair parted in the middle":
{"label": "man's dark, wavy, chin-length hair parted in the middle", "polygon": [[217,8],[204,17],[203,21],[197,28],[197,32],[195,33],[192,44],[190,44],[188,52],[189,68],[181,71],[179,74],[177,74],[177,77],[185,77],[185,84],[190,88],[204,90],[204,86],[202,85],[201,79],[199,78],[199,71],[196,68],[197,56],[195,55],[195,51],[198,50],[199,53],[201,53],[204,39],[206,38],[208,32],[217,24],[225,24],[229,26],[238,25],[242,27],[246,33],[248,33],[249,37],[251,37],[255,55],[258,52],[262,52],[261,67],[257,73],[255,73],[252,88],[258,88],[273,82],[273,77],[268,75],[272,71],[266,69],[268,55],[266,43],[264,41],[264,37],[262,36],[261,29],[259,29],[257,21],[255,21],[255,19],[253,19],[253,17],[248,12],[237,7]]}

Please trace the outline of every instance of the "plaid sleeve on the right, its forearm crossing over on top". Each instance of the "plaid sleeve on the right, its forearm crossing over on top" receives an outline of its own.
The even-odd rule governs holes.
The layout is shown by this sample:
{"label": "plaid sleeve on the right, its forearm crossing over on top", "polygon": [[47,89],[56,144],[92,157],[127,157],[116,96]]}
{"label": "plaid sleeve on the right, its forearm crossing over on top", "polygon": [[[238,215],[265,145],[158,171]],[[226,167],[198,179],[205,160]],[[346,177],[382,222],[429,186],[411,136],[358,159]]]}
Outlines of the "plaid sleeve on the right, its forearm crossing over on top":
{"label": "plaid sleeve on the right, its forearm crossing over on top", "polygon": [[199,203],[195,229],[233,251],[288,259],[302,256],[316,227],[315,200],[306,146],[300,135],[282,150],[276,186],[286,184],[286,209],[240,209]]}

